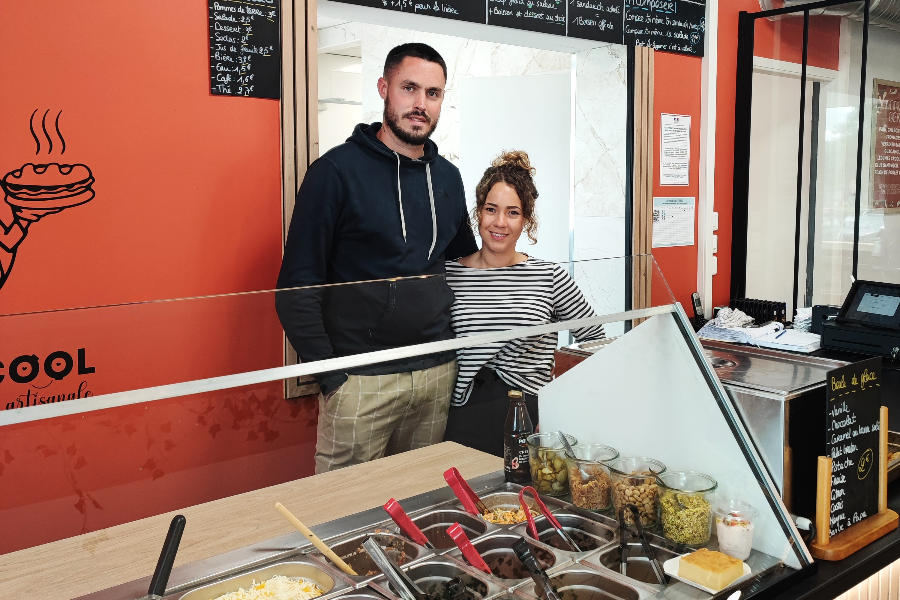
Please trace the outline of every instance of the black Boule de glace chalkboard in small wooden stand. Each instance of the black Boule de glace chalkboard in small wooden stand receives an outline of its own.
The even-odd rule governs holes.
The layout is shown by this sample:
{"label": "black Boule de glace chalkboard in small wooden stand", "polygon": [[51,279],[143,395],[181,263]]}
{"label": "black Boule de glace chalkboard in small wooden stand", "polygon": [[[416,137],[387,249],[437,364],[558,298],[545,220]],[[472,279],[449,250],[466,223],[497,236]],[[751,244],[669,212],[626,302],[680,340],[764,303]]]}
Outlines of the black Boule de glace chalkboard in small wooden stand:
{"label": "black Boule de glace chalkboard in small wooden stand", "polygon": [[881,359],[828,372],[831,535],[878,512]]}

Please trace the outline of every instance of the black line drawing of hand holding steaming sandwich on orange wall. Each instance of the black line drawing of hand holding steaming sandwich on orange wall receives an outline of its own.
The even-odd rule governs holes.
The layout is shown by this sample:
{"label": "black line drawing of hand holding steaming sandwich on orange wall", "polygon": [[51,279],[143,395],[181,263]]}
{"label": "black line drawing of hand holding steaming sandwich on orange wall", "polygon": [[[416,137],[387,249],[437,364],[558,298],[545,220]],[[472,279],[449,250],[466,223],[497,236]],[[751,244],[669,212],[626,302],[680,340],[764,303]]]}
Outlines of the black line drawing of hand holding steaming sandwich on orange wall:
{"label": "black line drawing of hand holding steaming sandwich on orange wall", "polygon": [[[35,133],[35,110],[31,114],[29,126],[37,144],[35,154],[41,152],[41,139]],[[47,115],[41,118],[41,130],[47,141],[47,153],[53,152],[53,139],[47,132]],[[59,131],[57,113],[53,127],[60,143],[60,155],[65,154],[66,142]],[[94,176],[82,164],[62,164],[57,162],[25,163],[22,167],[7,173],[0,179],[4,198],[0,202],[0,289],[9,279],[16,253],[34,224],[54,213],[89,202],[94,197]]]}

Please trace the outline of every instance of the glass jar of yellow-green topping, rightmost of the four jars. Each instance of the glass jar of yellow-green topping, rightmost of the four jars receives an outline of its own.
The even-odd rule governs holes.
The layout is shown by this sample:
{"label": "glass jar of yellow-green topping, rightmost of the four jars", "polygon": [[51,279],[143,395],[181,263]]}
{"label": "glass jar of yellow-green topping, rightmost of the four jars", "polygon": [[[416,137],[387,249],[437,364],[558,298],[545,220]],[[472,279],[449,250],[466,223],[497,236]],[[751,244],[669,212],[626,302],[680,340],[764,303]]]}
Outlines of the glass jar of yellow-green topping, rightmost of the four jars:
{"label": "glass jar of yellow-green topping, rightmost of the four jars", "polygon": [[667,471],[658,479],[663,535],[676,544],[705,546],[712,533],[716,480],[697,471]]}

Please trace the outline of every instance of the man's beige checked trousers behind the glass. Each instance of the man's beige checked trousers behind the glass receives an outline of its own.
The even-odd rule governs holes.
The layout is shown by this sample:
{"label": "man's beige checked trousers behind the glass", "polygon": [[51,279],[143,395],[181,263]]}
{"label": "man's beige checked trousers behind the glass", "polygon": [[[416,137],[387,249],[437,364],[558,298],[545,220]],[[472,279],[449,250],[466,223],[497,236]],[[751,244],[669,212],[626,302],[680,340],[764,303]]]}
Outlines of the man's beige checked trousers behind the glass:
{"label": "man's beige checked trousers behind the glass", "polygon": [[440,442],[456,384],[456,361],[411,373],[350,375],[319,394],[316,473]]}

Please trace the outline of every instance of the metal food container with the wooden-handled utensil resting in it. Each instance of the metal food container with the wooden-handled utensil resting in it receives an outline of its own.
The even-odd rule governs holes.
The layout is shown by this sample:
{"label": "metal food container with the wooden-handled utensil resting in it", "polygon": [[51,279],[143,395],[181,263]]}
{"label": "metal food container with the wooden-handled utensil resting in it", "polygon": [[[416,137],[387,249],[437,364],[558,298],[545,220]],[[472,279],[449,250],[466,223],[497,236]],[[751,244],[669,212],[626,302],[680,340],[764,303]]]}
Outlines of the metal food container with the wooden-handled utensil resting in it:
{"label": "metal food container with the wooden-handled utensil resting in it", "polygon": [[[334,553],[350,565],[351,569],[358,573],[357,576],[342,574],[344,578],[352,581],[356,587],[365,585],[367,582],[381,576],[381,570],[369,556],[369,553],[362,547],[362,543],[367,537],[376,540],[378,545],[384,548],[385,554],[387,554],[398,566],[413,564],[417,561],[434,556],[433,550],[414,544],[399,535],[382,533],[381,531],[373,531],[361,535],[356,534],[349,539],[344,537],[327,540],[328,545],[334,550]],[[318,550],[310,552],[309,556],[320,563],[331,567],[331,562]]]}

